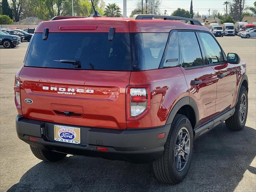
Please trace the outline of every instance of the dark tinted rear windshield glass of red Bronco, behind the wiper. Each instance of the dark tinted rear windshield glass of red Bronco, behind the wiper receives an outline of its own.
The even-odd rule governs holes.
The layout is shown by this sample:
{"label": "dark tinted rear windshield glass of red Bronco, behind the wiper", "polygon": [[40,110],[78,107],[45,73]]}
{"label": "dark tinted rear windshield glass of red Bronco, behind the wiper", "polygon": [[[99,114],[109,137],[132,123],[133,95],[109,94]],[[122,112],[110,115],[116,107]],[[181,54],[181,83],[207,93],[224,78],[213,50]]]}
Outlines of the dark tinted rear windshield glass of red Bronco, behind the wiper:
{"label": "dark tinted rear windshield glass of red Bronco, behind the wiper", "polygon": [[25,66],[75,69],[70,63],[54,60],[79,60],[81,69],[131,70],[129,33],[115,33],[113,41],[108,33],[35,33]]}

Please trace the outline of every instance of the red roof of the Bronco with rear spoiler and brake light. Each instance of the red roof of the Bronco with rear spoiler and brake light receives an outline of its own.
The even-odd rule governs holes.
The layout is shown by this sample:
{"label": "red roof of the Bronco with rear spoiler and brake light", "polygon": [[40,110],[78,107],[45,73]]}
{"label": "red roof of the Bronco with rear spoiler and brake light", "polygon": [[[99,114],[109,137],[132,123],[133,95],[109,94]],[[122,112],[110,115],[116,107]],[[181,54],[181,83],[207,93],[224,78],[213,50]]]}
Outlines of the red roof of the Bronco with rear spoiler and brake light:
{"label": "red roof of the Bronco with rear spoiler and brake light", "polygon": [[114,27],[117,33],[144,33],[162,32],[169,33],[173,29],[194,29],[209,30],[199,25],[184,24],[180,21],[163,19],[131,19],[131,18],[110,18],[110,17],[87,17],[72,18],[41,22],[35,33],[42,33],[44,28],[49,32],[109,32]]}

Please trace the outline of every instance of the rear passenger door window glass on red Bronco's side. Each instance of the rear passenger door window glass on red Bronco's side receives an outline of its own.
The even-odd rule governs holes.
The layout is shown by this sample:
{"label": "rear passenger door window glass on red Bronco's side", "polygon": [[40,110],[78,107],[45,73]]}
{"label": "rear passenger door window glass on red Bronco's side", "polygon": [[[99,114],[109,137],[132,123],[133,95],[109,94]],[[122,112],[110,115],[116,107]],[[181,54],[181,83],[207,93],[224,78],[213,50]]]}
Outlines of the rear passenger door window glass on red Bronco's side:
{"label": "rear passenger door window glass on red Bronco's side", "polygon": [[203,65],[201,50],[194,32],[179,32],[182,66]]}

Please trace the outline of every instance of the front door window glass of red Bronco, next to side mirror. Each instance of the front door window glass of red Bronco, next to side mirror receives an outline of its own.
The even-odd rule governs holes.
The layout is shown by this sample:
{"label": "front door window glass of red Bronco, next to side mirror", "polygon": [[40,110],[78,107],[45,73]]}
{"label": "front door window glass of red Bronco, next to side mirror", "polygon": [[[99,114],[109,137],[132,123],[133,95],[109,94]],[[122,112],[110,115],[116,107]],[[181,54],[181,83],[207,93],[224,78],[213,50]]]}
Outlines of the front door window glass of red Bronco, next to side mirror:
{"label": "front door window glass of red Bronco, next to side mirror", "polygon": [[205,47],[209,64],[223,62],[222,51],[216,40],[209,33],[199,32],[199,35],[202,39],[203,46]]}

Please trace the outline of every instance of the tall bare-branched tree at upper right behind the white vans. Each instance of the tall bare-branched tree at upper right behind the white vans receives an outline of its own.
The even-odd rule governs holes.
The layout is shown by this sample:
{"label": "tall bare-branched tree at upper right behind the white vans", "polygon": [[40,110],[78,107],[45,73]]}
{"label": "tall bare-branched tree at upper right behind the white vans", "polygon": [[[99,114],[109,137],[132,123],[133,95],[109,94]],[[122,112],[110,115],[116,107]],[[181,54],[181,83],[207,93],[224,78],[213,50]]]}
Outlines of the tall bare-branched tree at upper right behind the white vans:
{"label": "tall bare-branched tree at upper right behind the white vans", "polygon": [[229,3],[230,14],[235,21],[242,20],[242,13],[244,11],[245,0],[233,0]]}

